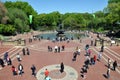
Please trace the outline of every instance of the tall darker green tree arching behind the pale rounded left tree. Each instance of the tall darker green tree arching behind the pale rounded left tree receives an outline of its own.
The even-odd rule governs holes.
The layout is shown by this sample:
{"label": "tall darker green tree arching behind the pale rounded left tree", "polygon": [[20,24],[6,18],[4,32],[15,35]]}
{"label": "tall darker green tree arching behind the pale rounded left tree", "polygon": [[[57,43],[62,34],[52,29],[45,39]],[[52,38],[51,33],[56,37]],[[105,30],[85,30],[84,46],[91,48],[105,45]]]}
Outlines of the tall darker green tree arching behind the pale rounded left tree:
{"label": "tall darker green tree arching behind the pale rounded left tree", "polygon": [[[16,2],[6,1],[4,4],[7,7],[7,9],[9,9],[9,8],[13,8],[13,9],[17,8],[19,10],[22,10],[26,14],[27,17],[29,17],[29,15],[32,15],[33,16],[32,24],[30,24],[30,23],[27,23],[27,24],[29,24],[31,29],[35,29],[35,27],[36,27],[35,17],[37,15],[37,12],[32,8],[31,5],[28,4],[28,2],[23,2],[23,1],[16,1]],[[28,22],[29,22],[29,20],[28,20]]]}

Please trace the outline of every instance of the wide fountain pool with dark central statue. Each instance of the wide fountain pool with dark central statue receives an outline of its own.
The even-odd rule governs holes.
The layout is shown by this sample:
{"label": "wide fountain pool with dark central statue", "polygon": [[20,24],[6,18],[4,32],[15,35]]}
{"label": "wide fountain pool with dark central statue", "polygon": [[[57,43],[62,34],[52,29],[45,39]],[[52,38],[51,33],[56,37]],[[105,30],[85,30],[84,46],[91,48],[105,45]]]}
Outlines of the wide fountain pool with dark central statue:
{"label": "wide fountain pool with dark central statue", "polygon": [[63,24],[60,24],[57,27],[56,32],[42,33],[42,34],[39,34],[39,35],[36,35],[36,36],[38,38],[42,37],[42,39],[64,41],[64,40],[67,40],[67,39],[71,39],[71,40],[78,39],[78,36],[80,38],[83,38],[83,37],[85,37],[85,34],[84,33],[78,33],[77,31],[76,32],[65,31],[63,29]]}

